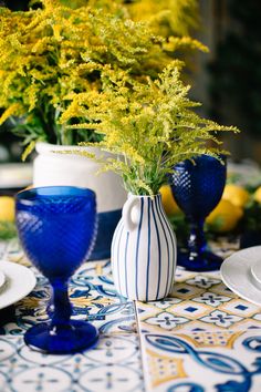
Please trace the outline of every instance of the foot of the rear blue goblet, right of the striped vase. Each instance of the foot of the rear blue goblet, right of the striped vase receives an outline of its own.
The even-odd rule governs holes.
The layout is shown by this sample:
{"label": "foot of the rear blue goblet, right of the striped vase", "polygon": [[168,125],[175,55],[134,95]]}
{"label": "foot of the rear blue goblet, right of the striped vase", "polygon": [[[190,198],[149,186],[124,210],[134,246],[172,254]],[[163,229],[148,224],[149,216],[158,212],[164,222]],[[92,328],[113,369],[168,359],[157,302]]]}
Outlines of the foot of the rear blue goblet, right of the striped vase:
{"label": "foot of the rear blue goblet, right of the striped vase", "polygon": [[223,259],[211,251],[201,255],[191,255],[186,250],[178,250],[177,264],[189,271],[207,272],[219,270]]}

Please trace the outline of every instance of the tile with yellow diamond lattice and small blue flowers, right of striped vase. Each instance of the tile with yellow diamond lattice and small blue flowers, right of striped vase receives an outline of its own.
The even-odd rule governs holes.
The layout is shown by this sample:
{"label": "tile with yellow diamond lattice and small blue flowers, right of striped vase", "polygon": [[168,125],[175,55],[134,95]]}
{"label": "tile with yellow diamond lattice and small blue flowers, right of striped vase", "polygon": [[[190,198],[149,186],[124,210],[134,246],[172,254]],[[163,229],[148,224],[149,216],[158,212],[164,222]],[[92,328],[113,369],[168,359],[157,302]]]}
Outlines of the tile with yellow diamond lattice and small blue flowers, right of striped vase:
{"label": "tile with yellow diamond lattice and small blue flowers, right of striped vase", "polygon": [[[238,298],[222,282],[218,272],[194,274],[178,269],[173,298],[159,302],[137,302],[142,331],[212,331],[218,329],[261,328],[260,308]],[[157,305],[158,303],[158,305]],[[168,306],[169,305],[169,306]],[[161,307],[161,308],[160,308]],[[168,314],[159,312],[164,310]],[[179,320],[180,321],[175,321]],[[186,319],[186,320],[185,320]]]}

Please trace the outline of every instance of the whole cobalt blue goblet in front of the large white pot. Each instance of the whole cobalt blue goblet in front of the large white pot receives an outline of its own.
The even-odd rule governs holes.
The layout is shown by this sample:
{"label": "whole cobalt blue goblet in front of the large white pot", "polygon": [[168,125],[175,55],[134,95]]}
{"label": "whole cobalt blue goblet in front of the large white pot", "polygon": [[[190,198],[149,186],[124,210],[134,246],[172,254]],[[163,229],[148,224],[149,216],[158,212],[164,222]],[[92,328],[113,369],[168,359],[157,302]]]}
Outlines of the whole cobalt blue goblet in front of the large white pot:
{"label": "whole cobalt blue goblet in front of the large white pot", "polygon": [[39,323],[25,334],[25,343],[46,353],[81,352],[97,340],[86,321],[71,320],[67,285],[94,246],[96,199],[91,189],[50,186],[17,195],[15,219],[22,247],[53,289],[51,322]]}

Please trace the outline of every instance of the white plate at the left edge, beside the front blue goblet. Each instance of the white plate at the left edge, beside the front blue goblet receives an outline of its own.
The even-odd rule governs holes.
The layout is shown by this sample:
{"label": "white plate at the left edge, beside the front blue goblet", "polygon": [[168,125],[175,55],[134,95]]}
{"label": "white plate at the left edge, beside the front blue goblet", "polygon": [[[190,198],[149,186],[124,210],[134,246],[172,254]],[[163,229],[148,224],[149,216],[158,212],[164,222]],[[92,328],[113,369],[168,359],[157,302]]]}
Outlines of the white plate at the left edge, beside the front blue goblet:
{"label": "white plate at the left edge, beside the front blue goblet", "polygon": [[0,292],[0,309],[20,301],[36,283],[34,274],[19,264],[0,260],[0,271],[6,276],[6,283]]}

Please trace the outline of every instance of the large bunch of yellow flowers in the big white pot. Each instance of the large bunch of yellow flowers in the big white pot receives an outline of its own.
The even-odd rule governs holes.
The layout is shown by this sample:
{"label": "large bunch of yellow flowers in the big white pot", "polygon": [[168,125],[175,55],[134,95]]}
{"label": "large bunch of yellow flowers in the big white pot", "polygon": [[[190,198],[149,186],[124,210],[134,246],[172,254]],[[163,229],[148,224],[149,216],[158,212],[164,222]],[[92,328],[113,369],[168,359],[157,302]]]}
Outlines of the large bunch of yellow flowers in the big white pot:
{"label": "large bunch of yellow flowers in the big white pot", "polygon": [[121,1],[108,1],[105,10],[104,1],[75,9],[59,0],[36,3],[40,7],[34,2],[27,12],[0,9],[0,125],[11,120],[29,146],[25,155],[36,141],[97,141],[100,135],[90,127],[71,132],[60,118],[71,106],[64,97],[101,91],[107,68],[111,73],[127,71],[136,80],[155,79],[175,50],[200,48],[187,37],[157,37],[147,23],[127,19]]}

